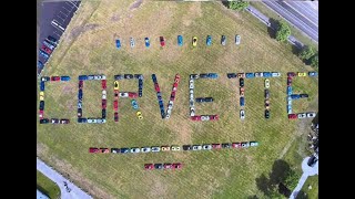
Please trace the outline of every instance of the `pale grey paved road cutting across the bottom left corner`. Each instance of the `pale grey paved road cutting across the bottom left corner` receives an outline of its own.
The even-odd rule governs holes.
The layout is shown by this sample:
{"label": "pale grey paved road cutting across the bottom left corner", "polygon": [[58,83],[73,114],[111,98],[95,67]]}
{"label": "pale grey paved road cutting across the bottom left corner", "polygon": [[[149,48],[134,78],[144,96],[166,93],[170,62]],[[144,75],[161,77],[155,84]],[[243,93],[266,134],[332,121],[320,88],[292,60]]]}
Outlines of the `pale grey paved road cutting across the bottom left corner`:
{"label": "pale grey paved road cutting across the bottom left corner", "polygon": [[[49,179],[54,181],[58,187],[60,188],[60,195],[61,199],[91,199],[92,197],[82,191],[79,187],[77,187],[74,184],[70,182],[68,179],[65,179],[62,175],[47,166],[42,160],[37,158],[37,170],[41,171],[44,176],[47,176]],[[67,186],[64,185],[67,182]],[[67,189],[70,189],[70,192],[68,192]]]}

